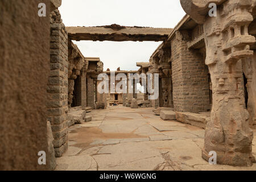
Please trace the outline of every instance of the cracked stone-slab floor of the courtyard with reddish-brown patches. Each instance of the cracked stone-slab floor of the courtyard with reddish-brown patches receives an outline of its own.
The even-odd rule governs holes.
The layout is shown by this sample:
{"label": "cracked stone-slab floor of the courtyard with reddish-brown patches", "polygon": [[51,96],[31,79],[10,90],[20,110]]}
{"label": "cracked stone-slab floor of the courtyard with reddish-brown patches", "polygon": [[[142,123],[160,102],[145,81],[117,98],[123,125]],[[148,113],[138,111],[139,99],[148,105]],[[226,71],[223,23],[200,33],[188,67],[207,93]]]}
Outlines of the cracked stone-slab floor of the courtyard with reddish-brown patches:
{"label": "cracked stone-slab floor of the courtyard with reddish-brown patches", "polygon": [[152,108],[113,106],[92,115],[91,122],[69,128],[69,148],[57,158],[56,170],[256,170],[256,164],[210,165],[201,158],[203,129],[163,121]]}

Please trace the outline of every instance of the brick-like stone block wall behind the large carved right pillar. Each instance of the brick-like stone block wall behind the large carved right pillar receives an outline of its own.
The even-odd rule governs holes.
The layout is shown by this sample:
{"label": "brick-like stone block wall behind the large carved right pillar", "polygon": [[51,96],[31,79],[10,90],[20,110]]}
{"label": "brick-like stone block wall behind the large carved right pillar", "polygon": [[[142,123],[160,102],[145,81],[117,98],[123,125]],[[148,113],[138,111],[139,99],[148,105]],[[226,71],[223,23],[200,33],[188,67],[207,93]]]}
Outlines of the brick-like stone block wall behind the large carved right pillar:
{"label": "brick-like stone block wall behind the large carved right pillar", "polygon": [[203,55],[188,49],[188,33],[176,32],[172,39],[172,84],[176,111],[199,113],[210,110],[208,69]]}

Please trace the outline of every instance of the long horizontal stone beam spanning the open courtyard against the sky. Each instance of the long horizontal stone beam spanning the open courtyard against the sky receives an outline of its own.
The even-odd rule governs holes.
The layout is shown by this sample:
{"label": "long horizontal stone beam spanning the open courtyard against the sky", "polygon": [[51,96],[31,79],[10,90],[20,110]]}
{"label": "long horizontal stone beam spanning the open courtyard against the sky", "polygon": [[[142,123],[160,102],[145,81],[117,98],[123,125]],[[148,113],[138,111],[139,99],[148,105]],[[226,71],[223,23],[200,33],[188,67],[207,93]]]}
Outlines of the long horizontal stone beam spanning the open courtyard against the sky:
{"label": "long horizontal stone beam spanning the open courtyard against the sky", "polygon": [[66,27],[69,39],[93,41],[165,41],[172,28],[125,27],[117,24],[101,27]]}

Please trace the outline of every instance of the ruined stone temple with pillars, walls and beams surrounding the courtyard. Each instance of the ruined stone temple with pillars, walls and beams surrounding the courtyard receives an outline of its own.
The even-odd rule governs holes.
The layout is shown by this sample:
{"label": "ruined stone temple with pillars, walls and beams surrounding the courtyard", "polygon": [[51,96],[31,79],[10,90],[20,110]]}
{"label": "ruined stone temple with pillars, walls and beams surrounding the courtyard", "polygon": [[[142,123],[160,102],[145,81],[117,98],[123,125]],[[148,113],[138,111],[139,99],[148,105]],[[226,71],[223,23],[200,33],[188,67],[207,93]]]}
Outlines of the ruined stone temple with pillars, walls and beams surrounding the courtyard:
{"label": "ruined stone temple with pillars, walls and beams surrounding the courtyard", "polygon": [[[255,0],[180,0],[187,14],[173,29],[126,27],[117,24],[65,27],[58,10],[61,0],[42,0],[47,7],[51,7],[45,18],[39,18],[36,9],[34,10],[38,0],[24,2],[16,5],[13,0],[0,1],[0,9],[4,6],[14,7],[10,10],[11,13],[15,13],[17,6],[26,7],[27,15],[35,17],[31,21],[38,24],[32,30],[27,27],[33,27],[32,22],[26,24],[15,16],[17,24],[10,20],[13,32],[9,34],[17,37],[11,41],[2,36],[0,41],[0,53],[11,55],[5,56],[5,64],[2,66],[11,68],[12,73],[19,72],[19,77],[10,76],[6,72],[0,73],[0,82],[3,85],[15,85],[13,89],[16,90],[11,91],[7,86],[0,89],[3,93],[0,94],[1,99],[5,103],[1,106],[5,128],[0,127],[3,135],[0,137],[0,169],[55,169],[55,157],[60,158],[68,150],[69,127],[92,121],[92,110],[106,110],[114,105],[132,109],[150,108],[155,117],[162,118],[163,121],[176,121],[205,129],[200,157],[206,161],[210,158],[209,152],[215,151],[217,164],[250,167],[256,162],[256,151],[252,148],[256,132]],[[208,15],[209,4],[212,2],[218,7],[216,17]],[[10,18],[7,12],[4,13]],[[24,31],[17,33],[17,26],[23,27]],[[37,34],[26,32],[27,28]],[[3,27],[0,35],[7,35],[8,31],[8,26]],[[28,33],[31,34],[28,36]],[[21,39],[23,35],[27,39]],[[43,40],[42,45],[36,43],[35,39]],[[15,44],[16,40],[27,44],[24,49],[33,52],[31,57],[23,56],[22,52],[11,51],[11,44]],[[86,57],[72,40],[154,41],[162,44],[152,52],[150,60],[137,63],[138,70],[122,71],[118,68],[117,71],[104,71],[104,60],[100,57]],[[37,50],[31,44],[38,44]],[[35,55],[36,51],[38,55]],[[31,60],[32,64],[23,61],[26,64],[20,71],[19,61],[9,63],[13,59]],[[97,78],[102,73],[108,76],[109,85],[117,85],[119,81],[127,84],[129,73],[157,73],[159,97],[149,100],[151,93],[136,93],[136,78],[132,78],[133,93],[112,92],[110,87],[108,94],[98,93],[100,81]],[[127,80],[112,82],[112,73],[114,76],[122,73],[127,76]],[[20,81],[24,81],[24,86],[19,84]],[[141,80],[137,81],[142,84]],[[154,79],[150,81],[154,85]],[[26,89],[26,92],[20,87]],[[125,89],[129,90],[129,86]],[[27,100],[30,96],[31,102]],[[16,110],[14,113],[5,109],[9,105],[13,111]],[[11,124],[17,119],[18,123]],[[17,131],[23,123],[27,123],[27,131]],[[9,133],[15,135],[10,137]],[[24,138],[26,133],[30,134],[28,137],[31,141]],[[20,145],[24,143],[22,148],[28,148],[27,154],[13,159],[10,154],[14,151],[18,154],[22,150],[13,143],[19,135],[22,138],[17,142]],[[52,141],[47,136],[52,136]],[[27,140],[29,141],[24,142]],[[9,147],[10,144],[14,147]],[[47,151],[47,155],[51,156],[51,161],[45,168],[36,164],[36,147]],[[28,154],[35,160],[28,164],[16,164],[24,162]]]}

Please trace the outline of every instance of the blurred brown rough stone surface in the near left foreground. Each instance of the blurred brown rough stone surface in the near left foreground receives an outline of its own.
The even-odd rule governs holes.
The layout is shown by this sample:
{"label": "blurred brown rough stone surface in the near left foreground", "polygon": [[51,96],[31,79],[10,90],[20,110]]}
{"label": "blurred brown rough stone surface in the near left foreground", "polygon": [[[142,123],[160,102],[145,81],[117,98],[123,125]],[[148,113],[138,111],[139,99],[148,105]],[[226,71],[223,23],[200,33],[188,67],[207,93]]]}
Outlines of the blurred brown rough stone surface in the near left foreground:
{"label": "blurred brown rough stone surface in the near left foreground", "polygon": [[44,170],[47,151],[46,85],[49,73],[47,0],[0,1],[0,170]]}

